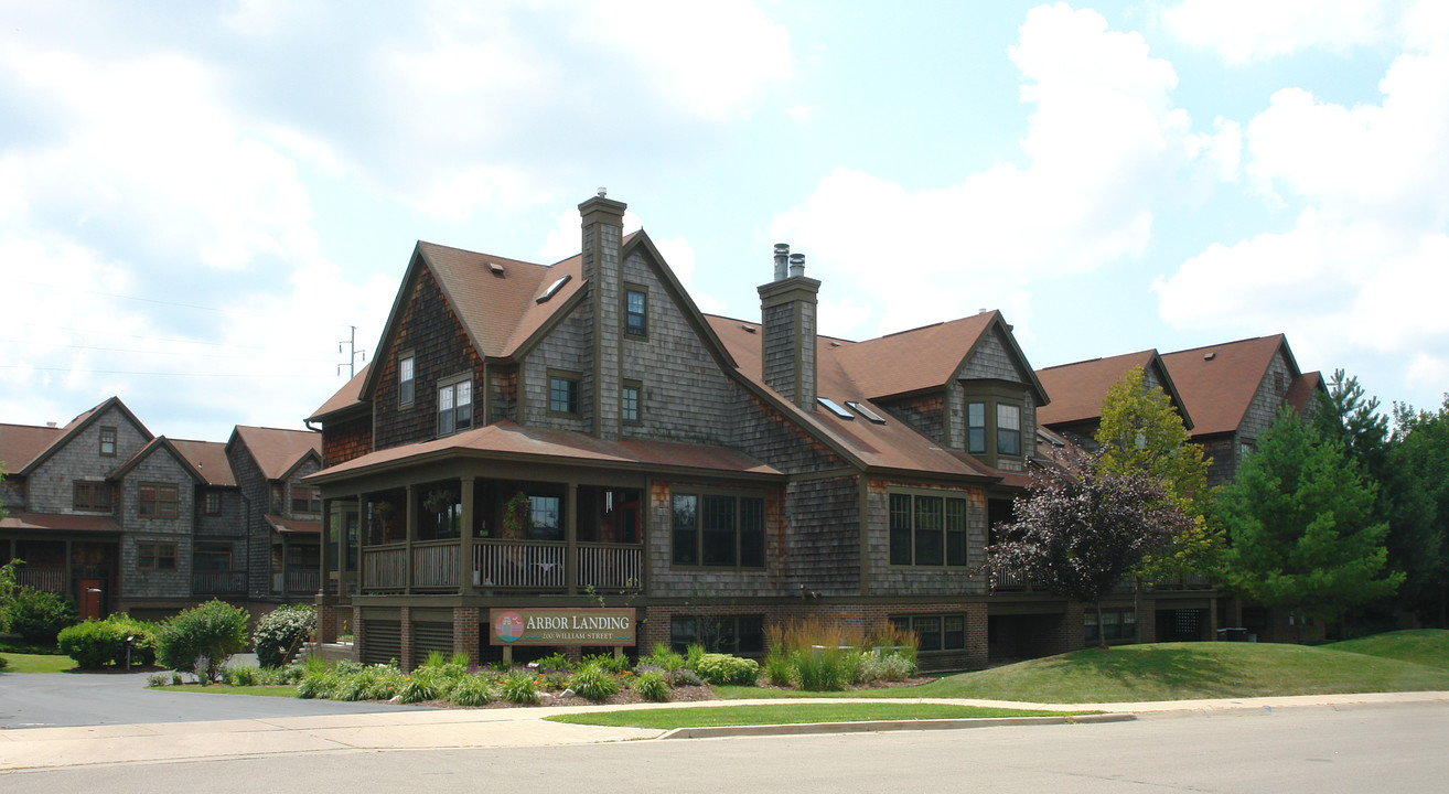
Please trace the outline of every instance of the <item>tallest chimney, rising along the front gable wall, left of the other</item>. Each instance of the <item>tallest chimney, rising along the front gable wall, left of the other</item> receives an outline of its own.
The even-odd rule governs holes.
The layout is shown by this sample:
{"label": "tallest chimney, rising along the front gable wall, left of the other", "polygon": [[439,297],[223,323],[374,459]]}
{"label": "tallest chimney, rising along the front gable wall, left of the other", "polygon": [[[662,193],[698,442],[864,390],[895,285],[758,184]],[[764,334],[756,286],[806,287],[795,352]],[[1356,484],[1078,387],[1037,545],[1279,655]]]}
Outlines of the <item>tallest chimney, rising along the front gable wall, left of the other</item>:
{"label": "tallest chimney, rising along the front gable wall, left of the other", "polygon": [[584,235],[584,281],[588,284],[588,304],[593,314],[593,361],[590,384],[585,385],[593,435],[617,439],[620,432],[620,301],[622,268],[619,245],[623,241],[625,209],[627,204],[598,196],[578,206]]}

